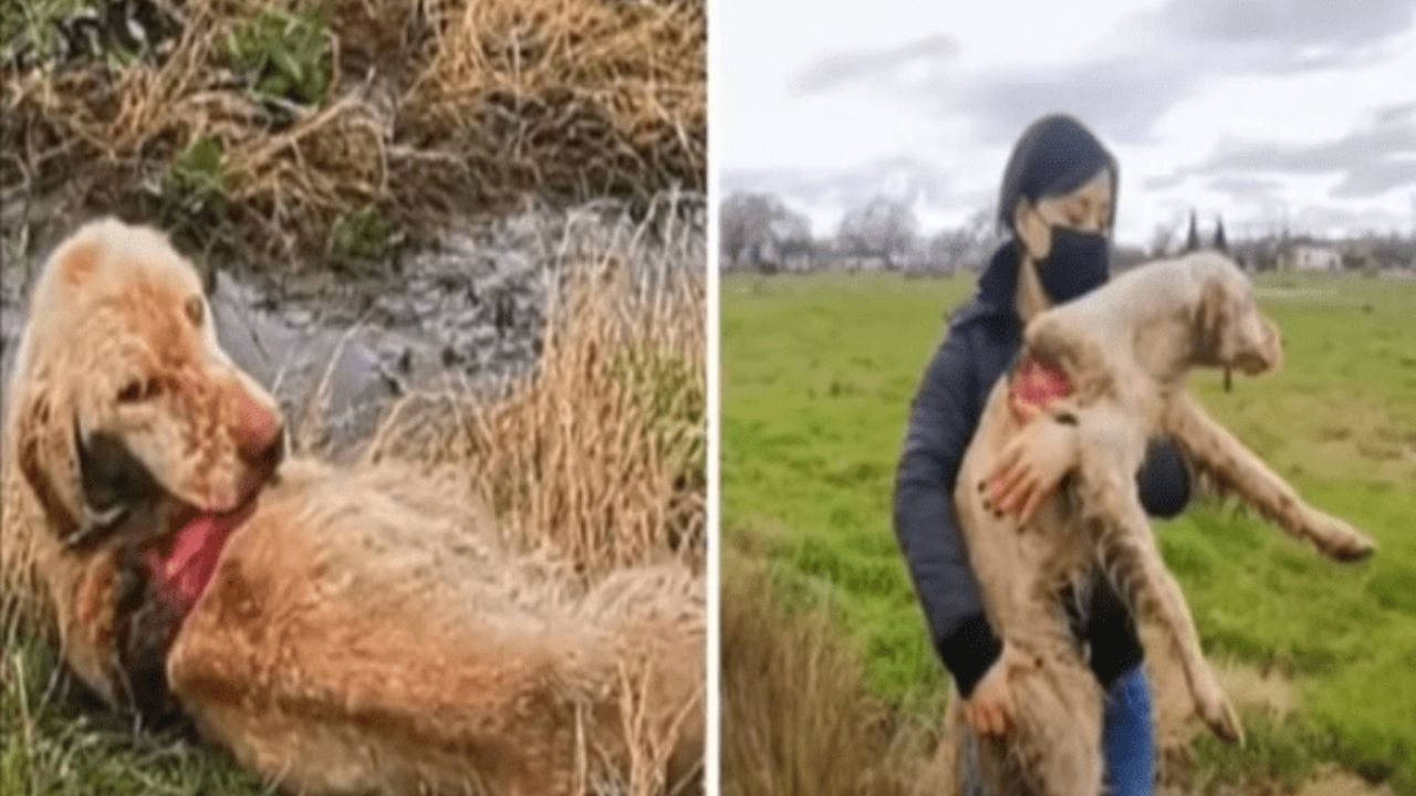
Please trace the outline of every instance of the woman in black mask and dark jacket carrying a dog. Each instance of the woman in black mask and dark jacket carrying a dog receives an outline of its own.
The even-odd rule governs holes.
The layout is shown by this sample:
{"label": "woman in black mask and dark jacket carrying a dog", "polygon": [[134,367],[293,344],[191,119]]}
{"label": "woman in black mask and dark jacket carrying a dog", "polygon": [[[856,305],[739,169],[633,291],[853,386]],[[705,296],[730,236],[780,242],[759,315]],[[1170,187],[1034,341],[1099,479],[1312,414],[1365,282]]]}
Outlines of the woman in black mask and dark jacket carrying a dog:
{"label": "woman in black mask and dark jacket carrying a dog", "polygon": [[[1116,184],[1116,159],[1078,120],[1044,116],[1022,133],[998,194],[998,222],[1008,229],[1008,241],[984,268],[977,295],[950,316],[910,409],[895,476],[895,533],[935,649],[964,698],[976,734],[1008,731],[1012,695],[998,663],[1003,647],[984,616],[954,517],[954,480],[988,392],[1012,365],[1027,322],[1106,282]],[[1014,395],[1012,405],[1029,411],[1027,397]],[[1065,448],[1024,449],[1004,477],[990,484],[1003,511],[1028,514],[1056,486],[1072,462],[1049,450]],[[1137,479],[1141,503],[1153,516],[1171,517],[1189,501],[1188,470],[1167,443],[1153,446]],[[1106,693],[1107,793],[1150,793],[1151,707],[1136,625],[1104,579],[1089,592],[1085,601],[1058,599],[1068,605]],[[1085,605],[1078,608],[1079,602]],[[961,769],[971,763],[964,761]],[[967,796],[983,796],[977,783],[961,788]]]}

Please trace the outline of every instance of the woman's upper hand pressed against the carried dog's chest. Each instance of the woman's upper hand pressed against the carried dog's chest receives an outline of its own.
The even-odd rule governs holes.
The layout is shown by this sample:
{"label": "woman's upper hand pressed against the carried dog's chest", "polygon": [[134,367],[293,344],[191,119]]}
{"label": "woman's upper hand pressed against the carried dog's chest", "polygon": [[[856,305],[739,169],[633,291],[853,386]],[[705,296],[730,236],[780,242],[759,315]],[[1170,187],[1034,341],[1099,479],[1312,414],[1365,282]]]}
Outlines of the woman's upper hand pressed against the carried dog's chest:
{"label": "woman's upper hand pressed against the carried dog's chest", "polygon": [[1027,523],[1076,465],[1076,426],[1038,416],[1018,432],[988,473],[994,511]]}

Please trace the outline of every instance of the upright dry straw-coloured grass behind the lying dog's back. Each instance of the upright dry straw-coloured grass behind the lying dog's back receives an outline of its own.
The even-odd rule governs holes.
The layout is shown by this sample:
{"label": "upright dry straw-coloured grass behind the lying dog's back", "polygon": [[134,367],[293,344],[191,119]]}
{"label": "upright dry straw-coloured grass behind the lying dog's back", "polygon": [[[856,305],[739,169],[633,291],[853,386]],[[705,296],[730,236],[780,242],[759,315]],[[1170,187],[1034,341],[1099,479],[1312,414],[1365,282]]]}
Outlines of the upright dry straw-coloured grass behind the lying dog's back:
{"label": "upright dry straw-coloured grass behind the lying dog's back", "polygon": [[514,542],[583,575],[666,558],[701,571],[702,273],[609,252],[559,295],[532,373],[497,399],[406,398],[367,456],[467,473]]}

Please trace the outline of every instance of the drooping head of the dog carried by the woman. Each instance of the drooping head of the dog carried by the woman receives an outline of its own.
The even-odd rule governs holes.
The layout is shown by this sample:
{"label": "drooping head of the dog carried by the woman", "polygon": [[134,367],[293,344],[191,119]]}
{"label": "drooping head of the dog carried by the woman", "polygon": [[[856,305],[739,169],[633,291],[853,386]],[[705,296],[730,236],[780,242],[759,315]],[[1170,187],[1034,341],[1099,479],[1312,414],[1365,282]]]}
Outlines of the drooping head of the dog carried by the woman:
{"label": "drooping head of the dog carried by the woman", "polygon": [[1212,252],[1191,255],[1189,262],[1199,285],[1191,316],[1195,363],[1249,375],[1277,368],[1283,363],[1279,327],[1259,312],[1243,271]]}

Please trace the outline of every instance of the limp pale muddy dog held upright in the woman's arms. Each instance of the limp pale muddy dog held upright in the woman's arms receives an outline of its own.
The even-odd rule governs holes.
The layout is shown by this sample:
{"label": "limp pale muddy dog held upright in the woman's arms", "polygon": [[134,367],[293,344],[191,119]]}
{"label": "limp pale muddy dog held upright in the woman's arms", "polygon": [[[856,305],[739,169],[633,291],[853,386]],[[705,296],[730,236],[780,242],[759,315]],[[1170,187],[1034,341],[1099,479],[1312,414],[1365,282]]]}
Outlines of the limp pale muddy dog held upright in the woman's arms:
{"label": "limp pale muddy dog held upright in the woman's arms", "polygon": [[[1368,537],[1307,506],[1185,391],[1195,367],[1223,368],[1228,380],[1232,368],[1259,374],[1280,360],[1277,329],[1259,313],[1247,278],[1218,254],[1137,268],[1028,324],[1020,364],[990,394],[954,493],[1015,704],[1010,732],[977,745],[991,796],[1102,790],[1102,693],[1061,602],[1097,568],[1163,629],[1197,715],[1221,738],[1242,737],[1140,504],[1134,474],[1150,439],[1168,435],[1211,483],[1325,555],[1372,552]],[[1015,412],[1010,401],[1038,382],[1045,409]],[[1058,455],[1072,466],[1061,489],[1018,518],[991,506],[986,486],[1027,445],[1065,446]],[[961,741],[960,710],[950,724]]]}

